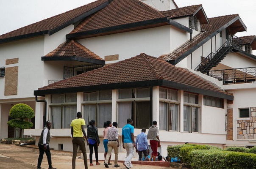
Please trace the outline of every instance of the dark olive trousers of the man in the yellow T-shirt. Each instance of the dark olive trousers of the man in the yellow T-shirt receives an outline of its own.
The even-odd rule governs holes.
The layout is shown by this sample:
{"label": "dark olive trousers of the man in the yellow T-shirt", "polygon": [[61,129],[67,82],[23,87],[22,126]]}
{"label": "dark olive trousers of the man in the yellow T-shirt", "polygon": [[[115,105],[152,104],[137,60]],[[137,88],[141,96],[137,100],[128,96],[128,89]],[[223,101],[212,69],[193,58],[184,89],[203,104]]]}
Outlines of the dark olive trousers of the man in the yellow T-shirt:
{"label": "dark olive trousers of the man in the yellow T-shirt", "polygon": [[84,143],[83,137],[73,137],[72,143],[73,143],[72,169],[75,169],[75,159],[77,155],[78,145],[80,146],[80,149],[82,150],[82,153],[83,153],[84,168],[88,169],[87,155],[86,155],[86,149],[85,149],[85,143]]}

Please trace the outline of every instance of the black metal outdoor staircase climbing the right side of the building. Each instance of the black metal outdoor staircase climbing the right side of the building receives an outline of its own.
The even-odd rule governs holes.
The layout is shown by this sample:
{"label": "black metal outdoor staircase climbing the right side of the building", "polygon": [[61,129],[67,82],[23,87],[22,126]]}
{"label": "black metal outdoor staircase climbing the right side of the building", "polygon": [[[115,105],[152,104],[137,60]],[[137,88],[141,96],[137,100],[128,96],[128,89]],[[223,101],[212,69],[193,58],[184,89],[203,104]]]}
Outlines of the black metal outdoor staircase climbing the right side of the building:
{"label": "black metal outdoor staircase climbing the right side of the building", "polygon": [[201,57],[201,63],[195,68],[203,74],[209,74],[211,68],[216,67],[229,52],[235,52],[235,48],[242,49],[242,39],[231,36],[225,43],[220,46],[216,53],[211,52],[207,57]]}

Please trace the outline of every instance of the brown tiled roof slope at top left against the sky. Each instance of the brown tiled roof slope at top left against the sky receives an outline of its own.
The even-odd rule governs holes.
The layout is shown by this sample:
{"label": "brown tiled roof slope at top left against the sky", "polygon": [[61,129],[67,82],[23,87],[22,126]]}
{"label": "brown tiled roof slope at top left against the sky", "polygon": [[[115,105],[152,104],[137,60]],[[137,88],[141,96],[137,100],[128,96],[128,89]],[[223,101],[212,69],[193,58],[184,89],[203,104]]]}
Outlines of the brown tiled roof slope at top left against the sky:
{"label": "brown tiled roof slope at top left against the sky", "polygon": [[56,16],[50,17],[48,19],[44,19],[42,21],[33,23],[31,25],[19,28],[17,30],[11,31],[9,33],[0,35],[0,39],[12,38],[19,35],[27,35],[31,33],[38,33],[42,31],[50,31],[53,30],[65,23],[71,21],[72,19],[81,16],[82,14],[91,11],[103,3],[106,3],[108,0],[97,0],[95,2],[89,3],[87,5],[83,5],[81,7],[72,9],[62,14],[58,14]]}

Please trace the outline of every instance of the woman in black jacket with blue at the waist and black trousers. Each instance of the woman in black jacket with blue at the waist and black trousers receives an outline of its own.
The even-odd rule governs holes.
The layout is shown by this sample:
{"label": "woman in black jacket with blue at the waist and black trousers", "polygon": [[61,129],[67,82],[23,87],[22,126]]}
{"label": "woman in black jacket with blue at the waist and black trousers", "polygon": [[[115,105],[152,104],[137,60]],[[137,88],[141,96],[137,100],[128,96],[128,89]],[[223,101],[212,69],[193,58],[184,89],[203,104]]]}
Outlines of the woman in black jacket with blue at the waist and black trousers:
{"label": "woman in black jacket with blue at the waist and black trousers", "polygon": [[88,142],[89,142],[89,149],[90,149],[90,166],[93,166],[92,164],[92,153],[93,153],[93,148],[95,151],[95,158],[96,158],[96,165],[100,165],[98,162],[98,146],[100,144],[100,139],[99,139],[99,134],[98,134],[98,129],[95,126],[96,122],[95,120],[91,120],[89,122],[89,127],[87,128],[87,137],[88,137]]}

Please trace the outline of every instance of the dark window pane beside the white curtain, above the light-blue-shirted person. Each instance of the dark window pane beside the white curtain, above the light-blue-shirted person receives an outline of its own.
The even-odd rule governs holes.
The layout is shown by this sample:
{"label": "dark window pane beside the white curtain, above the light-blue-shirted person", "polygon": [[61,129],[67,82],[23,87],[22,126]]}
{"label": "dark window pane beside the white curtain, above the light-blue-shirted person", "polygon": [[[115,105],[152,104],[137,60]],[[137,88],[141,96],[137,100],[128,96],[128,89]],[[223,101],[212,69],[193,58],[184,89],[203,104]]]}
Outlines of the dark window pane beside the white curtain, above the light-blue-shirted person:
{"label": "dark window pane beside the white curtain, above the light-blue-shirted person", "polygon": [[136,102],[135,128],[150,128],[150,101]]}

